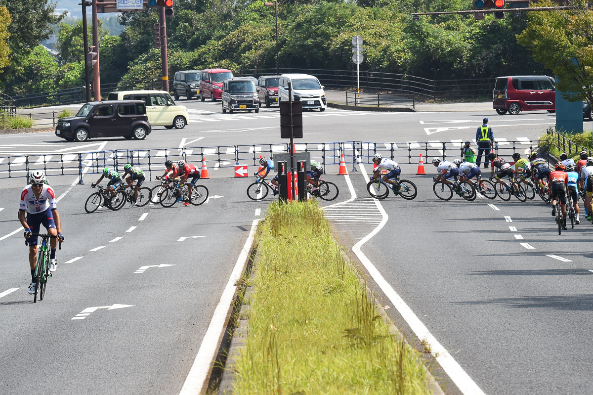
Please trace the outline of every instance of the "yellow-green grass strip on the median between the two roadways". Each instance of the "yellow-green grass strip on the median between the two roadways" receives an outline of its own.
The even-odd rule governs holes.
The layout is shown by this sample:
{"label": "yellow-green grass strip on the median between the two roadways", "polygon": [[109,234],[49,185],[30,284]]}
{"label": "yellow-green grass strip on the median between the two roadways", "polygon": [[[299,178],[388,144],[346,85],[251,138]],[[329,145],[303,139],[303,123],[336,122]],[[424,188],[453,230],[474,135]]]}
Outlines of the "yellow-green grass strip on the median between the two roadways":
{"label": "yellow-green grass strip on the median between the two roadways", "polygon": [[419,354],[377,315],[315,202],[260,224],[235,394],[426,394]]}

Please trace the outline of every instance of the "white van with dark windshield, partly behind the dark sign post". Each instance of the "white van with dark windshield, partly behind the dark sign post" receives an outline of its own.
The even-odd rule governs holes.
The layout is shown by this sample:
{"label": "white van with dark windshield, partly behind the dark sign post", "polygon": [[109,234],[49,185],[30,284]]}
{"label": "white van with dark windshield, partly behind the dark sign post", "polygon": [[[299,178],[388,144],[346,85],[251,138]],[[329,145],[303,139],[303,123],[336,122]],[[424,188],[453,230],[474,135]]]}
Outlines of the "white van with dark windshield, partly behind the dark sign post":
{"label": "white van with dark windshield, partly behind the dark sign post", "polygon": [[326,93],[317,77],[309,74],[282,74],[278,81],[278,101],[288,101],[288,82],[292,82],[292,95],[301,97],[303,109],[326,110]]}

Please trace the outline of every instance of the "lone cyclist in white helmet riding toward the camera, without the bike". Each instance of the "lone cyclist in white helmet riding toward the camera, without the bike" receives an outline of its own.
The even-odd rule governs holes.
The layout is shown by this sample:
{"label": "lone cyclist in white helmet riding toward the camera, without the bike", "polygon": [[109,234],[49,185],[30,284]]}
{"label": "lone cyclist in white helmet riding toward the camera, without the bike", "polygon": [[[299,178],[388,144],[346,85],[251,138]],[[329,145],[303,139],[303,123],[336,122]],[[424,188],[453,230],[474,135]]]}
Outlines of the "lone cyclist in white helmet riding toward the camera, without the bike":
{"label": "lone cyclist in white helmet riding toward the camera, without the bike", "polygon": [[[18,210],[18,220],[25,228],[24,237],[29,244],[29,267],[31,269],[31,283],[28,293],[35,293],[35,267],[37,266],[37,236],[33,233],[39,233],[40,225],[47,229],[50,235],[58,236],[60,241],[64,241],[62,234],[62,224],[56,205],[56,194],[52,187],[45,184],[45,173],[43,170],[34,170],[30,176],[30,184],[24,187],[21,192],[21,205]],[[25,212],[27,218],[25,219]],[[58,269],[56,261],[56,247],[58,240],[50,238],[49,270],[55,272]]]}

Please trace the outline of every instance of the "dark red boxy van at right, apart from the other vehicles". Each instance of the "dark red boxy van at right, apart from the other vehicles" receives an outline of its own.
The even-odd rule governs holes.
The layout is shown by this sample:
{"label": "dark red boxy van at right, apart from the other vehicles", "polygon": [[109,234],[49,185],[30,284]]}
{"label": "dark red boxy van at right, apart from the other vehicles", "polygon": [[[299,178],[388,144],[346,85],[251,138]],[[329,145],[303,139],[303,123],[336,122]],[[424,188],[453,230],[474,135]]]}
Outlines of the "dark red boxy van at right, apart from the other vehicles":
{"label": "dark red boxy van at right, apart from the other vehicles", "polygon": [[492,107],[500,115],[507,111],[511,115],[529,110],[556,111],[554,79],[546,75],[498,77],[492,98]]}

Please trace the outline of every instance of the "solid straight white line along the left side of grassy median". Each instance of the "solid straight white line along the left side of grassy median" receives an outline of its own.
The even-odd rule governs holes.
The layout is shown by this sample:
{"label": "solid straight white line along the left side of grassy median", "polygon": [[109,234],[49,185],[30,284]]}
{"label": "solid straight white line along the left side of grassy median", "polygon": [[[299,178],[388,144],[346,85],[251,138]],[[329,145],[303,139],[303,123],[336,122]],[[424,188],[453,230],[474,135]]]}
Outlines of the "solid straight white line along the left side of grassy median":
{"label": "solid straight white line along the left side of grassy median", "polygon": [[216,310],[214,310],[214,315],[212,316],[208,330],[206,330],[206,335],[204,335],[204,338],[202,339],[200,349],[197,351],[192,368],[183,383],[183,387],[179,393],[180,395],[197,394],[202,390],[204,384],[206,384],[206,376],[210,370],[210,365],[214,359],[216,350],[218,350],[218,343],[224,332],[227,313],[229,308],[231,308],[232,299],[237,290],[236,284],[241,277],[241,273],[243,273],[245,265],[247,265],[248,254],[251,250],[253,238],[257,230],[257,224],[260,220],[261,218],[254,219],[253,222],[251,222],[251,230],[249,231],[247,241],[243,246],[243,250],[241,250],[241,253],[239,254],[235,267],[232,269],[231,277],[228,279],[227,286],[225,286],[225,289],[222,292],[221,299],[218,302],[218,305],[216,305]]}

